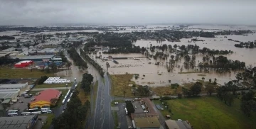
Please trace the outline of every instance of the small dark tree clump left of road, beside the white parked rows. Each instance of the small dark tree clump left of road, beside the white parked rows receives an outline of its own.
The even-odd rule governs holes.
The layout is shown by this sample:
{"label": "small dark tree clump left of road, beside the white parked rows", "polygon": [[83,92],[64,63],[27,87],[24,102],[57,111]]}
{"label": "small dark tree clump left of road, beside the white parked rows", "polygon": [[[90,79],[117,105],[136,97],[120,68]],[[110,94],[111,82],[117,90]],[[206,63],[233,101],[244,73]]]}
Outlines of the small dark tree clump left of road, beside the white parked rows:
{"label": "small dark tree clump left of road, beside the white parked rows", "polygon": [[93,77],[92,74],[82,74],[81,88],[85,93],[90,94],[90,85],[92,84]]}

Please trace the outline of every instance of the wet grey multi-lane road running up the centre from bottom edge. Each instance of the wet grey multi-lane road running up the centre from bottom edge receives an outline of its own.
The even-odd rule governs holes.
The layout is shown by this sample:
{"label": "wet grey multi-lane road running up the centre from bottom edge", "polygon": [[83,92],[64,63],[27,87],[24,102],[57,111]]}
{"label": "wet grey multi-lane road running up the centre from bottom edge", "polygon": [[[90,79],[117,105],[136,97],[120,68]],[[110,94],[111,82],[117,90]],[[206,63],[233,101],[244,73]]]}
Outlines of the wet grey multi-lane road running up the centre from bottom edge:
{"label": "wet grey multi-lane road running up the centre from bottom edge", "polygon": [[[80,54],[80,51],[78,49],[78,53]],[[81,56],[82,57],[82,56]],[[82,57],[84,60],[84,58]],[[85,62],[87,62],[85,60]],[[93,89],[91,91],[91,97],[93,96],[93,91],[97,90],[97,98],[95,103],[93,103],[93,99],[91,98],[91,107],[93,104],[95,104],[95,110],[91,108],[91,116],[88,118],[87,126],[92,129],[112,129],[114,128],[114,120],[111,112],[111,101],[112,97],[110,96],[110,89],[111,89],[111,82],[110,77],[105,74],[104,80],[100,76],[99,72],[97,72],[97,69],[93,67],[90,63],[88,63],[88,73],[92,73],[92,76],[94,78],[96,77],[95,81],[98,81],[98,89]],[[107,73],[107,72],[105,72]],[[86,127],[87,127],[86,126]]]}

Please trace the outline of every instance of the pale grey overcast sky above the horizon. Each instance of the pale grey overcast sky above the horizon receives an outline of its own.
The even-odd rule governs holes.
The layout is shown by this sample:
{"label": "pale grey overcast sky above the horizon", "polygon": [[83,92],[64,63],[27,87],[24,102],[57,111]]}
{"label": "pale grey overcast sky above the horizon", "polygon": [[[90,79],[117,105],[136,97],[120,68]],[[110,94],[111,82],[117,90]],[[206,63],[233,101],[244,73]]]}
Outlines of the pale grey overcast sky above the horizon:
{"label": "pale grey overcast sky above the horizon", "polygon": [[256,24],[256,0],[0,0],[0,25]]}

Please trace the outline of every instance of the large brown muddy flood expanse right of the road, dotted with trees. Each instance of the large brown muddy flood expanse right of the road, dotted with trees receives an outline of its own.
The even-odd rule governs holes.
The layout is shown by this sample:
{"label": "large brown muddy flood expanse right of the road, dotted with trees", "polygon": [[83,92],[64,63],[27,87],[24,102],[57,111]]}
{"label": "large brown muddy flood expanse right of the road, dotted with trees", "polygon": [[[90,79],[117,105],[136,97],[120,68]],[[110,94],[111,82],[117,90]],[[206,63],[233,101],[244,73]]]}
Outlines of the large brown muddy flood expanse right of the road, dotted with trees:
{"label": "large brown muddy flood expanse right of the road, dotted with trees", "polygon": [[[254,41],[256,40],[255,34],[250,34],[247,36],[243,35],[227,35],[228,38],[231,38],[233,40],[240,40],[242,42],[247,41]],[[171,43],[169,41],[164,41],[162,43],[156,43],[154,40],[137,40],[134,45],[140,46],[140,47],[149,47],[150,44],[152,45],[198,45],[200,48],[208,47],[210,49],[215,50],[232,50],[234,53],[230,55],[224,55],[228,57],[230,60],[240,60],[241,62],[245,62],[248,66],[249,64],[252,64],[252,66],[255,66],[256,62],[256,49],[249,49],[249,48],[238,48],[235,47],[235,42],[229,41],[228,38],[224,38],[224,35],[218,36],[217,38],[198,38],[200,40],[205,40],[204,42],[196,42],[196,43],[188,43],[188,40],[190,39],[182,39],[181,42],[174,42]],[[165,53],[165,52],[164,52]],[[153,53],[154,54],[154,53]],[[175,55],[174,53],[170,54],[169,52],[166,52],[166,54],[169,55]],[[99,53],[97,53],[99,55]],[[183,84],[186,82],[196,82],[196,79],[202,79],[205,77],[206,80],[215,78],[218,80],[218,84],[224,84],[225,82],[229,82],[231,79],[235,79],[236,72],[231,73],[225,73],[225,74],[219,74],[216,72],[208,72],[208,73],[191,73],[191,74],[178,74],[178,72],[181,72],[181,67],[183,67],[183,58],[181,58],[181,61],[178,62],[177,67],[174,68],[173,72],[167,72],[166,69],[166,62],[169,62],[170,56],[167,60],[154,60],[151,58],[151,60],[146,59],[146,57],[142,54],[102,54],[102,57],[107,57],[111,55],[112,57],[142,57],[140,60],[117,60],[119,64],[114,64],[112,60],[109,60],[107,62],[110,63],[109,72],[110,74],[139,74],[139,79],[133,79],[137,84],[142,85],[149,85],[149,86],[166,86],[169,84],[169,80],[171,80],[171,83],[178,83]],[[190,55],[191,56],[191,55]],[[215,57],[218,55],[215,55]],[[95,59],[95,57],[94,57]],[[196,63],[202,62],[203,55],[196,55]],[[106,62],[102,62],[100,59],[95,59],[99,64],[102,65],[106,69]],[[155,62],[160,62],[160,65],[155,65]],[[178,66],[179,65],[179,66]],[[183,69],[182,72],[193,72],[194,69]],[[145,77],[143,77],[145,75]]]}

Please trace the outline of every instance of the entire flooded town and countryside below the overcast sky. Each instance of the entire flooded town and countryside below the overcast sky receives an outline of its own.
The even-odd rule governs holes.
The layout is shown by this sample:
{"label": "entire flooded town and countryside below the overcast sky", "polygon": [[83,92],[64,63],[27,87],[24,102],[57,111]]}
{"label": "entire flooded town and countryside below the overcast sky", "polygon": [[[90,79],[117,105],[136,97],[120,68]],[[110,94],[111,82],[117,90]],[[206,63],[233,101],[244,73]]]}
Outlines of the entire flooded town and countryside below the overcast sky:
{"label": "entire flooded town and countryside below the overcast sky", "polygon": [[256,128],[256,28],[0,26],[0,127]]}

